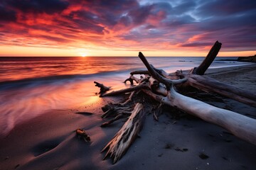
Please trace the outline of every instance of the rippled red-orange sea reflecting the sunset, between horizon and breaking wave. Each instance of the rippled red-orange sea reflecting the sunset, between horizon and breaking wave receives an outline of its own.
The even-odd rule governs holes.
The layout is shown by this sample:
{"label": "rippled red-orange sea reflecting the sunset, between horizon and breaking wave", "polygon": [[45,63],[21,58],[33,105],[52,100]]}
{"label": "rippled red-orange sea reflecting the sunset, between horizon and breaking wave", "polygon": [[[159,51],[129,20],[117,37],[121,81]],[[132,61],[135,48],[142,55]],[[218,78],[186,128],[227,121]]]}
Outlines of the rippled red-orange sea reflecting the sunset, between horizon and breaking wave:
{"label": "rippled red-orange sea reflecting the sunset, between horizon and breaking wave", "polygon": [[[0,59],[0,82],[118,71],[127,67],[124,61],[109,58],[106,62],[104,57],[7,57]],[[129,67],[137,67],[133,65],[129,63]]]}

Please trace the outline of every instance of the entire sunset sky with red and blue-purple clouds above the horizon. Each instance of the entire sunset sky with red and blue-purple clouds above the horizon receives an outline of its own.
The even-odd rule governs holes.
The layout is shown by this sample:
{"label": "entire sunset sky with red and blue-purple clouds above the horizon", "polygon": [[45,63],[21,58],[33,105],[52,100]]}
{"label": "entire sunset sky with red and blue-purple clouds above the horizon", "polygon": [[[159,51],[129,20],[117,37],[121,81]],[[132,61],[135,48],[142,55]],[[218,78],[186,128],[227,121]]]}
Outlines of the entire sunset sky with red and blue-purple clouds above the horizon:
{"label": "entire sunset sky with red and blue-purple clouds above the horizon", "polygon": [[1,0],[0,56],[249,56],[255,18],[255,0]]}

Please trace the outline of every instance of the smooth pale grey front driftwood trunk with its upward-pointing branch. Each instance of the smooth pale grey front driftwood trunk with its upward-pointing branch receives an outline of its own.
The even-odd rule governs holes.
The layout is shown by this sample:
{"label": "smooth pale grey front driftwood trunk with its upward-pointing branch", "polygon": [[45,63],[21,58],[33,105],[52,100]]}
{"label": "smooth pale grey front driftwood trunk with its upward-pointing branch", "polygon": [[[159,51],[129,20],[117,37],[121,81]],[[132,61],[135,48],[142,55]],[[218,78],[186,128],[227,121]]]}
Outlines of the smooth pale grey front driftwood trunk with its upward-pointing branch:
{"label": "smooth pale grey front driftwood trunk with its upward-pointing branch", "polygon": [[[139,53],[139,58],[144,62],[144,64],[147,62],[146,58],[141,52]],[[157,75],[154,69],[149,69],[149,73],[153,77]],[[154,78],[157,78],[161,83],[169,86],[169,81],[166,81],[164,77],[158,77],[157,75],[157,77]],[[175,91],[174,86],[171,86],[167,94],[168,95],[166,97],[163,97],[150,93],[150,96],[153,96],[157,101],[161,101],[169,106],[178,108],[191,115],[196,115],[209,123],[219,125],[220,127],[223,127],[233,133],[233,135],[240,137],[242,140],[246,140],[247,142],[256,145],[255,119],[248,118],[244,115],[240,115],[225,109],[216,108],[208,105],[207,103],[178,94]]]}

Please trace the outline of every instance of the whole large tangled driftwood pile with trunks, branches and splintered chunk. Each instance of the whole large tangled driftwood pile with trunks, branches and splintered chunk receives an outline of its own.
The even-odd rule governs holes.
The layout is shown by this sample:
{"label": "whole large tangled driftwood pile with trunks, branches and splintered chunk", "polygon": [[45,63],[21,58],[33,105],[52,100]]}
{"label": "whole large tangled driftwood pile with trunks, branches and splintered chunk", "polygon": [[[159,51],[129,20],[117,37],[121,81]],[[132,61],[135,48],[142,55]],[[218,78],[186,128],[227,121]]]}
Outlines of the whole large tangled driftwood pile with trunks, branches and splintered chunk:
{"label": "whole large tangled driftwood pile with trunks, branches and splintered chunk", "polygon": [[[129,116],[127,122],[119,132],[117,132],[117,135],[102,149],[102,152],[107,150],[105,158],[110,155],[115,163],[127,151],[128,147],[135,140],[139,130],[142,128],[144,115],[146,113],[146,111],[142,109],[143,106],[144,108],[151,107],[151,111],[148,109],[147,112],[154,113],[155,120],[158,120],[159,113],[157,112],[161,110],[159,108],[161,108],[162,105],[167,105],[225,128],[233,135],[240,137],[240,139],[256,145],[255,119],[223,108],[210,106],[207,103],[184,96],[176,91],[176,87],[179,91],[182,91],[183,89],[187,89],[188,86],[193,86],[196,89],[214,92],[256,107],[255,95],[203,75],[216,55],[218,55],[220,47],[221,43],[218,41],[215,42],[208,56],[199,67],[192,69],[191,72],[178,71],[175,74],[167,74],[164,70],[156,69],[149,64],[142,52],[139,52],[139,58],[142,60],[147,70],[131,72],[131,76],[125,80],[125,82],[130,81],[131,85],[135,81],[137,85],[119,91],[112,91],[108,94],[102,94],[102,97],[104,97],[131,93],[124,103],[117,103],[107,106],[107,109],[102,109],[105,111],[102,118],[114,117],[114,119],[103,123],[102,127],[114,123],[114,121],[119,120],[119,118]],[[144,74],[144,77],[137,79],[134,77],[135,74]],[[145,98],[142,99],[140,93],[150,96],[156,102],[149,104],[148,100]],[[134,106],[133,101],[139,100],[138,98],[140,98],[141,101]],[[132,107],[134,107],[133,111],[131,110]]]}

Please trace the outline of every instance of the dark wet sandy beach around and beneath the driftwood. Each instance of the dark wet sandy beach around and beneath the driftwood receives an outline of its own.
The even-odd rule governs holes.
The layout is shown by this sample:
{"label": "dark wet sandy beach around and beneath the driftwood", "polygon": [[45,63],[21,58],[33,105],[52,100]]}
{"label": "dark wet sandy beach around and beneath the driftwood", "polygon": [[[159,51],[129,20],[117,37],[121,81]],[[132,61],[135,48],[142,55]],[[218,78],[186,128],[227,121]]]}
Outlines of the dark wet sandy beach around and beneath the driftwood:
{"label": "dark wet sandy beach around and beneath the driftwood", "polygon": [[[206,74],[256,91],[256,64],[209,69]],[[255,145],[190,115],[175,119],[168,109],[159,122],[146,115],[140,137],[117,164],[112,164],[112,159],[102,161],[105,153],[100,153],[101,149],[123,122],[100,128],[101,107],[120,98],[106,97],[87,106],[51,110],[17,125],[0,139],[0,169],[255,169]],[[209,98],[206,103],[256,118],[256,108],[229,98],[218,99]],[[76,114],[78,111],[94,114]],[[91,142],[76,137],[78,128],[86,130]]]}

